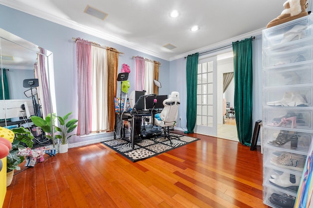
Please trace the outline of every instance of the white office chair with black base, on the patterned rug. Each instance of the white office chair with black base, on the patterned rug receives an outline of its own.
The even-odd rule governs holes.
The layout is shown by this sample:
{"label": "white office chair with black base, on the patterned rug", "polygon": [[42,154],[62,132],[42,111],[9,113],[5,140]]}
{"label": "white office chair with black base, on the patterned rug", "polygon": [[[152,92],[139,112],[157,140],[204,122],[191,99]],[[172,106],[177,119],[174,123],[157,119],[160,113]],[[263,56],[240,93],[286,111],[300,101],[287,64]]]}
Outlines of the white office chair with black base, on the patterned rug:
{"label": "white office chair with black base, on the patterned rug", "polygon": [[178,138],[178,136],[170,136],[169,128],[176,124],[179,104],[179,93],[172,92],[169,98],[163,101],[164,108],[161,113],[155,116],[155,125],[164,128],[164,139],[167,138],[171,144],[171,137]]}

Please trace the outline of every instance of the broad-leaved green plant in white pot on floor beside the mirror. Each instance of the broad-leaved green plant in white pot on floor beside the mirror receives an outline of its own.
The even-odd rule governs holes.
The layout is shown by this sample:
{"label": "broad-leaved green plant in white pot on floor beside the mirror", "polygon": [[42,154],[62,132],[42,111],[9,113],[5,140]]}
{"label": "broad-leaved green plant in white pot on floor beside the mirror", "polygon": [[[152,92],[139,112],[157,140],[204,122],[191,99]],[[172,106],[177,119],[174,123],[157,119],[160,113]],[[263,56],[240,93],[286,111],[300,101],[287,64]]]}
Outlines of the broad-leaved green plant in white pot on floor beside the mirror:
{"label": "broad-leaved green plant in white pot on floor beside the mirror", "polygon": [[[52,139],[52,132],[53,128],[55,129],[55,132],[58,132],[58,134],[55,134],[55,138],[57,139],[61,139],[61,143],[59,144],[59,152],[60,153],[64,153],[67,152],[67,139],[73,135],[76,134],[70,134],[70,132],[73,132],[74,129],[77,127],[77,122],[78,120],[76,118],[70,119],[67,121],[69,115],[71,114],[67,113],[65,116],[61,117],[61,116],[57,116],[57,115],[53,115],[53,117],[58,118],[59,121],[59,126],[52,124],[53,127],[51,128],[51,115],[49,114],[45,119],[33,115],[30,117],[30,119],[32,120],[32,122],[36,125],[39,126],[43,129],[44,132],[48,132],[51,133],[51,136],[46,135],[48,138]],[[54,133],[53,133],[54,134]]]}

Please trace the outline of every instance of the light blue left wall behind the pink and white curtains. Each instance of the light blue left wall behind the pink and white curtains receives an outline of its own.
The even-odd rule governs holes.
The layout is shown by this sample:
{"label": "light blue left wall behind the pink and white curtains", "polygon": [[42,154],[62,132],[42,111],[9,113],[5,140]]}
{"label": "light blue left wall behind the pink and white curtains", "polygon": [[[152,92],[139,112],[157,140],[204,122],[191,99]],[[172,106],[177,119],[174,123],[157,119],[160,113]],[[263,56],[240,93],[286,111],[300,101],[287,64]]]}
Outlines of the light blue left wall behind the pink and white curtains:
{"label": "light blue left wall behind the pink and white curtains", "polygon": [[[162,83],[160,94],[169,94],[170,92],[169,61],[167,60],[138,52],[125,46],[28,15],[3,5],[0,5],[0,14],[0,28],[33,42],[53,53],[56,105],[59,115],[73,111],[73,115],[77,117],[76,47],[72,38],[79,37],[88,39],[100,45],[113,47],[123,52],[124,55],[119,56],[118,72],[120,72],[123,63],[128,64],[131,66],[131,70],[134,70],[134,68],[132,68],[133,56],[142,56],[160,62],[159,81]],[[131,80],[132,75],[131,72]],[[134,83],[131,83],[131,85],[130,90],[134,89]],[[117,89],[117,94],[119,95],[118,92],[119,88]],[[84,138],[75,136],[71,137],[69,143],[101,139],[112,135],[112,133],[107,133]]]}

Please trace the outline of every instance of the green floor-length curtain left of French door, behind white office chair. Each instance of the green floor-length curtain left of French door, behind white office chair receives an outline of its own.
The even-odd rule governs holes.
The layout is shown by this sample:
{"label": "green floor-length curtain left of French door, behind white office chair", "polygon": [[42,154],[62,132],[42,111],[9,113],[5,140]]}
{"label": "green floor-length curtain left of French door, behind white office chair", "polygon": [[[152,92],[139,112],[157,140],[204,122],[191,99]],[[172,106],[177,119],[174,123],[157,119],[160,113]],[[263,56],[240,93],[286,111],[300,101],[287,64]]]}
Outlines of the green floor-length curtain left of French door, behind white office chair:
{"label": "green floor-length curtain left of French door, behind white office chair", "polygon": [[185,131],[185,133],[193,133],[196,126],[198,57],[199,53],[188,55],[187,57],[187,131]]}

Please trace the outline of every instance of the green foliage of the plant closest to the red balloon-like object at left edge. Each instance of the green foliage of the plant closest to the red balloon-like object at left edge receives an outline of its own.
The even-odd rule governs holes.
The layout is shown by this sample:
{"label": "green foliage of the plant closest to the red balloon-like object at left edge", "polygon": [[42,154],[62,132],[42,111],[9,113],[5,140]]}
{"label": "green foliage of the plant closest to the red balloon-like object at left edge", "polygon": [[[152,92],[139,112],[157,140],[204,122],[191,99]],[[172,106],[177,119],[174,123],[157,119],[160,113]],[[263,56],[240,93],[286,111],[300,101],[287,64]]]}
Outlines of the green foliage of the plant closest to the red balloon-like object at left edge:
{"label": "green foliage of the plant closest to the red balloon-like object at left edge", "polygon": [[7,172],[10,172],[15,169],[21,170],[19,164],[21,164],[24,161],[24,157],[18,156],[19,149],[24,149],[25,148],[24,144],[26,144],[26,146],[29,148],[32,148],[34,144],[33,142],[34,136],[28,129],[25,129],[24,127],[18,127],[11,129],[11,131],[14,132],[14,139],[12,142],[12,148],[9,151],[9,154],[6,158]]}

